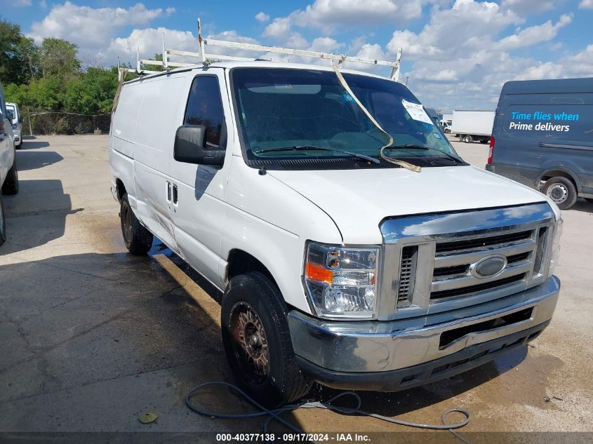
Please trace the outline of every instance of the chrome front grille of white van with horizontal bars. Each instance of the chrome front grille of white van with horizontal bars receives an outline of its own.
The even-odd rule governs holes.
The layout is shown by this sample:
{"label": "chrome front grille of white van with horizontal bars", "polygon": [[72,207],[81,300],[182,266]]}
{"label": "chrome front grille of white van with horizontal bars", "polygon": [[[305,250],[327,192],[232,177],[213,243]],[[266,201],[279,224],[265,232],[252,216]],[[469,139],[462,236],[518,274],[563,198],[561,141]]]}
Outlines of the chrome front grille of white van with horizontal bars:
{"label": "chrome front grille of white van with horizontal bars", "polygon": [[[554,223],[547,203],[386,220],[378,318],[437,314],[542,283]],[[495,257],[498,269],[482,273]]]}

